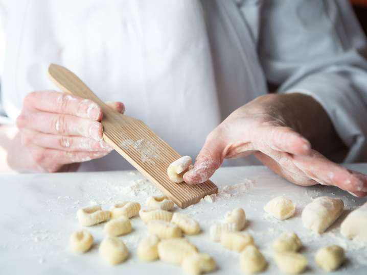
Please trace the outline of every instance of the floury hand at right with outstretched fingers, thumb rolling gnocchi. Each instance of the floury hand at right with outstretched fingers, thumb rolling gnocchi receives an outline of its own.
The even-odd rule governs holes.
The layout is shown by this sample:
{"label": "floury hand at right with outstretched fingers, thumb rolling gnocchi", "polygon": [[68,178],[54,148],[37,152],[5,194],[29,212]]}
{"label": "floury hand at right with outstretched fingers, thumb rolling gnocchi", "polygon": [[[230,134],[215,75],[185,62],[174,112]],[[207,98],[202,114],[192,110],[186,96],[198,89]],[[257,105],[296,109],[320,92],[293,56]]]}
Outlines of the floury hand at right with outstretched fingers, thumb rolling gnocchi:
{"label": "floury hand at right with outstretched fingers, thumb rolling gnocchi", "polygon": [[194,168],[183,179],[191,184],[204,182],[225,158],[254,154],[295,184],[335,185],[356,196],[367,195],[367,176],[311,148],[312,143],[319,151],[331,152],[341,143],[336,136],[328,115],[312,97],[264,95],[234,111],[208,135]]}

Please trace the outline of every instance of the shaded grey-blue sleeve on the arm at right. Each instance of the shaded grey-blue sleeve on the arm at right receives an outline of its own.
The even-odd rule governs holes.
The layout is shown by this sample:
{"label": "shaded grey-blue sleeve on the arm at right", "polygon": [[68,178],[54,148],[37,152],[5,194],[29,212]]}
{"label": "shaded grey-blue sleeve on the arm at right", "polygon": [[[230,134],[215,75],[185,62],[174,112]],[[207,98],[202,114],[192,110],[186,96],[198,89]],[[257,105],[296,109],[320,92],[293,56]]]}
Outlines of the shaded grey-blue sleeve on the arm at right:
{"label": "shaded grey-blue sleeve on the arm at right", "polygon": [[367,161],[366,40],[348,1],[264,1],[259,53],[279,92],[315,98],[348,146]]}

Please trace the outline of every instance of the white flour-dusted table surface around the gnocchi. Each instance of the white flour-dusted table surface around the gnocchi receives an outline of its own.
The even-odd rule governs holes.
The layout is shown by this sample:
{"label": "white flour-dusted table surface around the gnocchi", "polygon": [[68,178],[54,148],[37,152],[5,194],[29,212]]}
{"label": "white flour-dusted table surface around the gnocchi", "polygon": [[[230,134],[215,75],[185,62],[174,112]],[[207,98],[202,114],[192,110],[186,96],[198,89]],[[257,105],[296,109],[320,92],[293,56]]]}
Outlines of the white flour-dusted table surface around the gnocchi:
{"label": "white flour-dusted table surface around the gnocchi", "polygon": [[[367,172],[367,164],[351,165]],[[108,209],[121,201],[144,203],[149,195],[158,194],[136,171],[22,174],[1,176],[0,192],[0,274],[182,274],[179,266],[163,262],[141,263],[136,257],[136,246],[146,234],[144,223],[133,218],[133,232],[122,236],[128,246],[129,259],[118,266],[106,265],[98,255],[103,224],[88,230],[95,237],[91,251],[74,255],[68,251],[70,234],[80,229],[76,211],[90,204],[101,204]],[[218,264],[213,274],[242,274],[239,254],[228,251],[209,238],[210,225],[221,220],[228,210],[242,207],[246,211],[246,231],[253,234],[256,244],[269,265],[263,274],[280,274],[271,257],[271,240],[286,230],[299,234],[305,247],[302,253],[309,260],[304,274],[322,274],[315,265],[316,249],[326,244],[346,248],[347,262],[333,274],[367,274],[367,248],[346,240],[339,233],[339,224],[346,214],[366,202],[334,187],[295,186],[262,166],[220,168],[212,177],[219,187],[214,202],[201,201],[187,209],[175,209],[190,214],[199,221],[203,232],[189,236],[199,251],[211,254]],[[272,197],[286,195],[297,204],[295,215],[278,221],[266,215],[263,206]],[[341,218],[323,235],[316,236],[304,229],[300,214],[312,198],[329,195],[343,199],[346,207]]]}

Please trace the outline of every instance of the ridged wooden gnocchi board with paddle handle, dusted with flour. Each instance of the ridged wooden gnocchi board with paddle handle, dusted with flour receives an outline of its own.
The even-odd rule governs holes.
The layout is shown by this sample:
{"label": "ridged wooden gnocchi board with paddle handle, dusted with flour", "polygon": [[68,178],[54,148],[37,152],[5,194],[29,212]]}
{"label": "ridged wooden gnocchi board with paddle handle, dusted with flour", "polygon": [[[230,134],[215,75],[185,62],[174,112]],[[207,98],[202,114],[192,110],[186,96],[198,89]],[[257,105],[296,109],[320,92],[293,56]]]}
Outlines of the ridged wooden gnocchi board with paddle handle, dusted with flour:
{"label": "ridged wooden gnocchi board with paddle handle, dusted with flour", "polygon": [[141,120],[109,108],[73,72],[51,64],[49,77],[63,92],[91,99],[102,108],[103,139],[177,206],[186,208],[218,192],[211,181],[195,185],[172,182],[167,167],[181,156]]}

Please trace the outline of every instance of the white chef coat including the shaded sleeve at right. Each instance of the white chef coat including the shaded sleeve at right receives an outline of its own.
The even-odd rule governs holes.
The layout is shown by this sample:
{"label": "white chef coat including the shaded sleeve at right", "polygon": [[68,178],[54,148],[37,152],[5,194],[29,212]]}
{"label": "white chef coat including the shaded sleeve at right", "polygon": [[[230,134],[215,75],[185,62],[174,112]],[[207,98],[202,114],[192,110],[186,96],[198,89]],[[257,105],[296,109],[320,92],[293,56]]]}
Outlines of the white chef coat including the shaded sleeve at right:
{"label": "white chef coat including the shaded sleeve at right", "polygon": [[[195,157],[228,114],[268,92],[268,81],[279,92],[313,96],[348,146],[346,161],[367,161],[366,40],[347,0],[2,0],[1,7],[1,104],[12,121],[28,92],[56,89],[46,72],[57,63]],[[127,167],[113,152],[81,169]]]}

